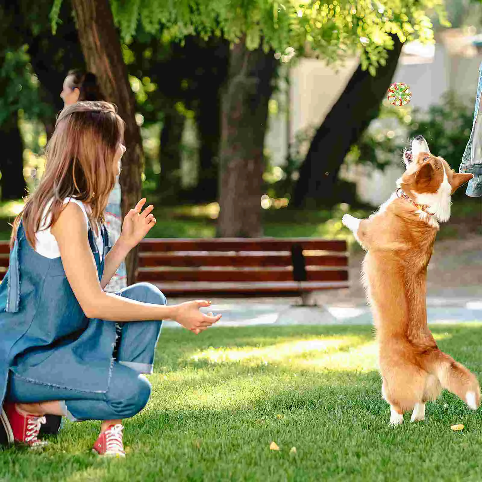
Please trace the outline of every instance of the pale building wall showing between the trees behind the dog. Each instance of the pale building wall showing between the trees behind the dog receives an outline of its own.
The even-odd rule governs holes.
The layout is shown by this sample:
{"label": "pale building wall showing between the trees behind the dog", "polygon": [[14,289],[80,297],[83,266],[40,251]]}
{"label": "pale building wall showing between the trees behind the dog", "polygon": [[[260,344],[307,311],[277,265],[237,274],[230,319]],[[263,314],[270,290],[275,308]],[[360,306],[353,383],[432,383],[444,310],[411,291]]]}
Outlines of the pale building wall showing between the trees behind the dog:
{"label": "pale building wall showing between the trees behind the dog", "polygon": [[[457,35],[457,32],[447,31],[439,36],[431,59],[402,54],[393,81],[405,82],[410,86],[413,107],[426,110],[430,105],[442,103],[444,94],[449,90],[454,90],[471,104],[474,102],[482,54],[473,47],[455,48],[456,41],[459,42]],[[455,37],[458,40],[454,40]],[[285,107],[289,106],[289,111],[284,109],[269,119],[266,149],[275,164],[285,162],[288,133],[293,142],[297,132],[310,126],[319,126],[357,67],[356,58],[337,66],[337,70],[322,60],[297,60],[290,69],[289,94],[283,94]],[[357,166],[346,170],[344,177],[356,183],[361,201],[376,206],[390,196],[395,180],[401,174],[402,165],[400,159],[396,159],[393,167],[383,173]],[[374,185],[377,186],[376,190]]]}

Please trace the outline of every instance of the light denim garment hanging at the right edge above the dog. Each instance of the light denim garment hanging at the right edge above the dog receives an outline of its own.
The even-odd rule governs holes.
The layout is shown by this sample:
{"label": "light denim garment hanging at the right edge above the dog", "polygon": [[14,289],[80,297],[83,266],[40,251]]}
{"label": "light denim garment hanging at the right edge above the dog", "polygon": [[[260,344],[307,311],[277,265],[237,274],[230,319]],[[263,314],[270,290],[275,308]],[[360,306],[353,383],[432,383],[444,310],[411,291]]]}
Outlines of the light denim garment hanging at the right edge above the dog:
{"label": "light denim garment hanging at the right edge above the dog", "polygon": [[479,111],[482,94],[482,63],[479,67],[479,83],[475,98],[474,120],[469,142],[462,156],[460,173],[473,174],[467,186],[467,196],[478,198],[482,196],[482,112]]}

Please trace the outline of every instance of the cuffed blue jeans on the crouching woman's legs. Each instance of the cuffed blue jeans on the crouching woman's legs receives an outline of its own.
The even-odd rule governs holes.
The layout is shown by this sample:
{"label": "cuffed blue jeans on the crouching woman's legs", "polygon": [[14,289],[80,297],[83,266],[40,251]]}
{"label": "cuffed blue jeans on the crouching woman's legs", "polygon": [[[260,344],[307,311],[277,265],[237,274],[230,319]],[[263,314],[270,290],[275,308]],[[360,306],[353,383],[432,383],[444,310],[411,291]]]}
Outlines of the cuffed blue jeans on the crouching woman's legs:
{"label": "cuffed blue jeans on the crouching woman's legs", "polygon": [[[166,298],[147,283],[129,286],[120,296],[147,303],[166,304]],[[111,321],[106,321],[111,322]],[[120,330],[113,347],[115,359],[106,392],[82,391],[46,385],[9,371],[5,400],[15,403],[35,403],[58,400],[72,421],[114,420],[139,413],[149,400],[151,386],[143,373],[152,373],[154,353],[162,321],[130,321],[118,323]]]}

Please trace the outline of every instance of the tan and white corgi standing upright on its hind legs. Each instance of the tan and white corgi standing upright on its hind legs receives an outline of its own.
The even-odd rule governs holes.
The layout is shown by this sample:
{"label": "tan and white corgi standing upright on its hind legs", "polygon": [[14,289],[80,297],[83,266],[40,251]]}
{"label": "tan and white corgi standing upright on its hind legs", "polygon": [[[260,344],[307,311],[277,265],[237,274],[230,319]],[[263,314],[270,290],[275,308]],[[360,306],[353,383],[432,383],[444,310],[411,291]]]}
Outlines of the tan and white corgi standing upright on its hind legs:
{"label": "tan and white corgi standing upright on its hind legs", "polygon": [[379,349],[382,396],[390,424],[425,419],[425,403],[442,388],[476,410],[479,383],[467,368],[443,353],[427,325],[427,266],[439,222],[450,217],[451,195],[472,174],[456,174],[434,156],[419,135],[403,155],[406,171],[398,189],[368,219],[343,216],[343,224],[366,250],[362,280]]}

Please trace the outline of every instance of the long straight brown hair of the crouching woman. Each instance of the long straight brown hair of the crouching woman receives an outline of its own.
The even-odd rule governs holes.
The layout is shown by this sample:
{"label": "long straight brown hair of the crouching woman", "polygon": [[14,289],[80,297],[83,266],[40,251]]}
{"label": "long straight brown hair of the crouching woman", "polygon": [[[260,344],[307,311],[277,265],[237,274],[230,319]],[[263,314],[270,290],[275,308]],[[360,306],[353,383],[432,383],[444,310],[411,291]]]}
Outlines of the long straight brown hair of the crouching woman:
{"label": "long straight brown hair of the crouching woman", "polygon": [[115,183],[114,154],[123,135],[124,122],[113,104],[82,101],[65,107],[45,150],[40,185],[27,197],[13,223],[11,247],[22,220],[27,240],[35,248],[35,233],[43,219],[48,224],[42,229],[52,227],[64,208],[64,199],[71,196],[90,207],[91,221],[103,222]]}

